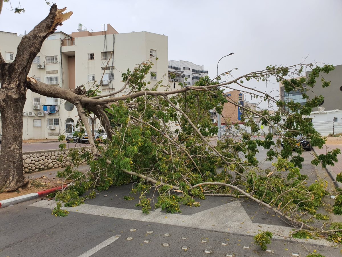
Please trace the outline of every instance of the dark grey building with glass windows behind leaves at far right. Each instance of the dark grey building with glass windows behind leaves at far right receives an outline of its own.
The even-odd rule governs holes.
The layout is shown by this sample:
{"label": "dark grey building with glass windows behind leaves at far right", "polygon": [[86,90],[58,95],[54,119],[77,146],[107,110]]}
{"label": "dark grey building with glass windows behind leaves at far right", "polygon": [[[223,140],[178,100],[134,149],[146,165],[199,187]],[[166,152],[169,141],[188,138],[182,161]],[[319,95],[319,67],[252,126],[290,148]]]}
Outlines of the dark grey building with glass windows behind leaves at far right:
{"label": "dark grey building with glass windows behind leaves at far right", "polygon": [[[305,94],[308,95],[309,99],[319,95],[324,97],[324,100],[320,103],[319,107],[313,108],[313,111],[342,109],[342,101],[340,100],[342,97],[342,65],[334,67],[335,69],[329,72],[329,74],[320,74],[326,81],[331,82],[330,86],[322,88],[321,77],[316,78],[316,83],[313,88],[303,85],[306,88]],[[305,76],[308,77],[310,73],[311,71],[306,72]],[[293,100],[301,105],[306,103],[306,99],[302,97],[302,93],[299,90],[285,92],[284,86],[279,83],[279,91],[280,100],[282,101],[286,102]]]}

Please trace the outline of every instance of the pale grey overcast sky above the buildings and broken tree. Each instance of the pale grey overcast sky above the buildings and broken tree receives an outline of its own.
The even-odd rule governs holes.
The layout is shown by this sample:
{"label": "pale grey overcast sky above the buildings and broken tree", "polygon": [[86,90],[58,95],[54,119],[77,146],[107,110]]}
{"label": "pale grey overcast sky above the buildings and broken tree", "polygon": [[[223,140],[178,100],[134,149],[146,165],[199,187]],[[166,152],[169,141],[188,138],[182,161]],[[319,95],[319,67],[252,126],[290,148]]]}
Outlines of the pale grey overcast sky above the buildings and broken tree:
{"label": "pale grey overcast sky above the buildings and broken tree", "polygon": [[[12,0],[17,6],[18,0]],[[169,60],[204,65],[209,76],[238,68],[235,76],[269,64],[306,62],[342,64],[342,0],[55,0],[73,11],[58,30],[76,31],[78,23],[101,31],[110,23],[119,33],[148,31],[168,36]],[[49,12],[43,0],[21,0],[25,13],[4,3],[0,30],[24,34]],[[249,84],[253,85],[254,82]],[[255,84],[279,89],[278,84]],[[275,94],[275,93],[274,93]],[[248,100],[248,99],[247,99]]]}

